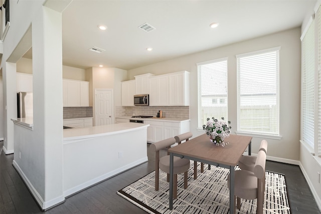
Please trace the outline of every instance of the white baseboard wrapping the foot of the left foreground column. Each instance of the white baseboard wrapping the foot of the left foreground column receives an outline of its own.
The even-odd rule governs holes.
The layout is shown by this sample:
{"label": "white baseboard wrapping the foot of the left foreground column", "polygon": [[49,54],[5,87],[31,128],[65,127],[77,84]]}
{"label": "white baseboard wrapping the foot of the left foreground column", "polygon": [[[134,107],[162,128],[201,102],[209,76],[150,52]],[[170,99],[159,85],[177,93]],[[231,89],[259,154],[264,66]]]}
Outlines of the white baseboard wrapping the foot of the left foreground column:
{"label": "white baseboard wrapping the foot of the left foreground column", "polygon": [[63,195],[56,197],[54,199],[44,201],[44,199],[41,197],[41,195],[38,193],[38,191],[35,189],[35,187],[32,185],[30,180],[27,178],[25,173],[22,171],[22,169],[19,167],[18,163],[14,160],[13,166],[16,168],[22,179],[24,180],[25,184],[27,185],[28,189],[30,190],[31,194],[34,196],[37,203],[40,205],[40,207],[45,210],[50,208],[51,206],[54,206],[60,202],[63,202],[65,200],[65,197]]}

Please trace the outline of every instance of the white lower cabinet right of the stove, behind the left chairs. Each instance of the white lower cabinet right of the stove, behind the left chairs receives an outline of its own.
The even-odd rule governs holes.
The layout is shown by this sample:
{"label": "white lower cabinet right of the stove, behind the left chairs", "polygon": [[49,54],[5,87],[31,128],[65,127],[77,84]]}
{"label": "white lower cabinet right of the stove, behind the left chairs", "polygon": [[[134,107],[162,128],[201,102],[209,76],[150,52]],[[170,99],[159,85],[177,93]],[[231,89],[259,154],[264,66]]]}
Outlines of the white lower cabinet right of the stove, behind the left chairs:
{"label": "white lower cabinet right of the stove, behind the left chairs", "polygon": [[149,124],[147,127],[147,142],[149,143],[175,137],[190,131],[189,120],[175,122],[144,120],[144,123]]}

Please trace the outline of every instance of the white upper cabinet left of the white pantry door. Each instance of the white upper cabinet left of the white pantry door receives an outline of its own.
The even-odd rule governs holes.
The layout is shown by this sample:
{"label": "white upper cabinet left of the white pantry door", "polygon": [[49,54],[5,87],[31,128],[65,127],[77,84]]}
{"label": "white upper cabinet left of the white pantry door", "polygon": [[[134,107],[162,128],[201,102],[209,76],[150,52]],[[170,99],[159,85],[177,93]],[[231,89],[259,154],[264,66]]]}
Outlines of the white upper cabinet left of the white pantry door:
{"label": "white upper cabinet left of the white pantry door", "polygon": [[78,80],[63,80],[63,106],[88,107],[89,82]]}

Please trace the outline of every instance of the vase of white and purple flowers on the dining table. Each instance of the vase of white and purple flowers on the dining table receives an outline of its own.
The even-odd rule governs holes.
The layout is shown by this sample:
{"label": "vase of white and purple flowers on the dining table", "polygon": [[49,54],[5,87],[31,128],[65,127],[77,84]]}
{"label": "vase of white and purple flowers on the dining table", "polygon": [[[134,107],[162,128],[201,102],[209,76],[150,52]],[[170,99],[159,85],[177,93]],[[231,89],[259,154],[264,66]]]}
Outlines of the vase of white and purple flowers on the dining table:
{"label": "vase of white and purple flowers on the dining table", "polygon": [[230,121],[225,122],[224,117],[222,120],[207,118],[206,125],[203,125],[203,129],[206,131],[206,134],[210,136],[210,140],[216,146],[225,146],[228,142],[224,142],[224,138],[230,136],[230,129],[232,128],[228,124],[231,124]]}

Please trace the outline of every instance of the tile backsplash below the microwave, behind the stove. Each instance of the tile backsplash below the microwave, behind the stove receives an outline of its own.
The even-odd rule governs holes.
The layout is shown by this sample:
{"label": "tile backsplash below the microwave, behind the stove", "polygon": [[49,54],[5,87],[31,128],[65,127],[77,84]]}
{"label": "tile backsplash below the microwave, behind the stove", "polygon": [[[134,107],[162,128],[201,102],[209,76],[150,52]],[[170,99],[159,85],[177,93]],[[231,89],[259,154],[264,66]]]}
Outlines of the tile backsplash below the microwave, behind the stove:
{"label": "tile backsplash below the microwave, behind the stove", "polygon": [[131,117],[134,115],[156,116],[159,110],[163,111],[163,117],[178,119],[190,118],[190,106],[116,106],[115,117]]}

